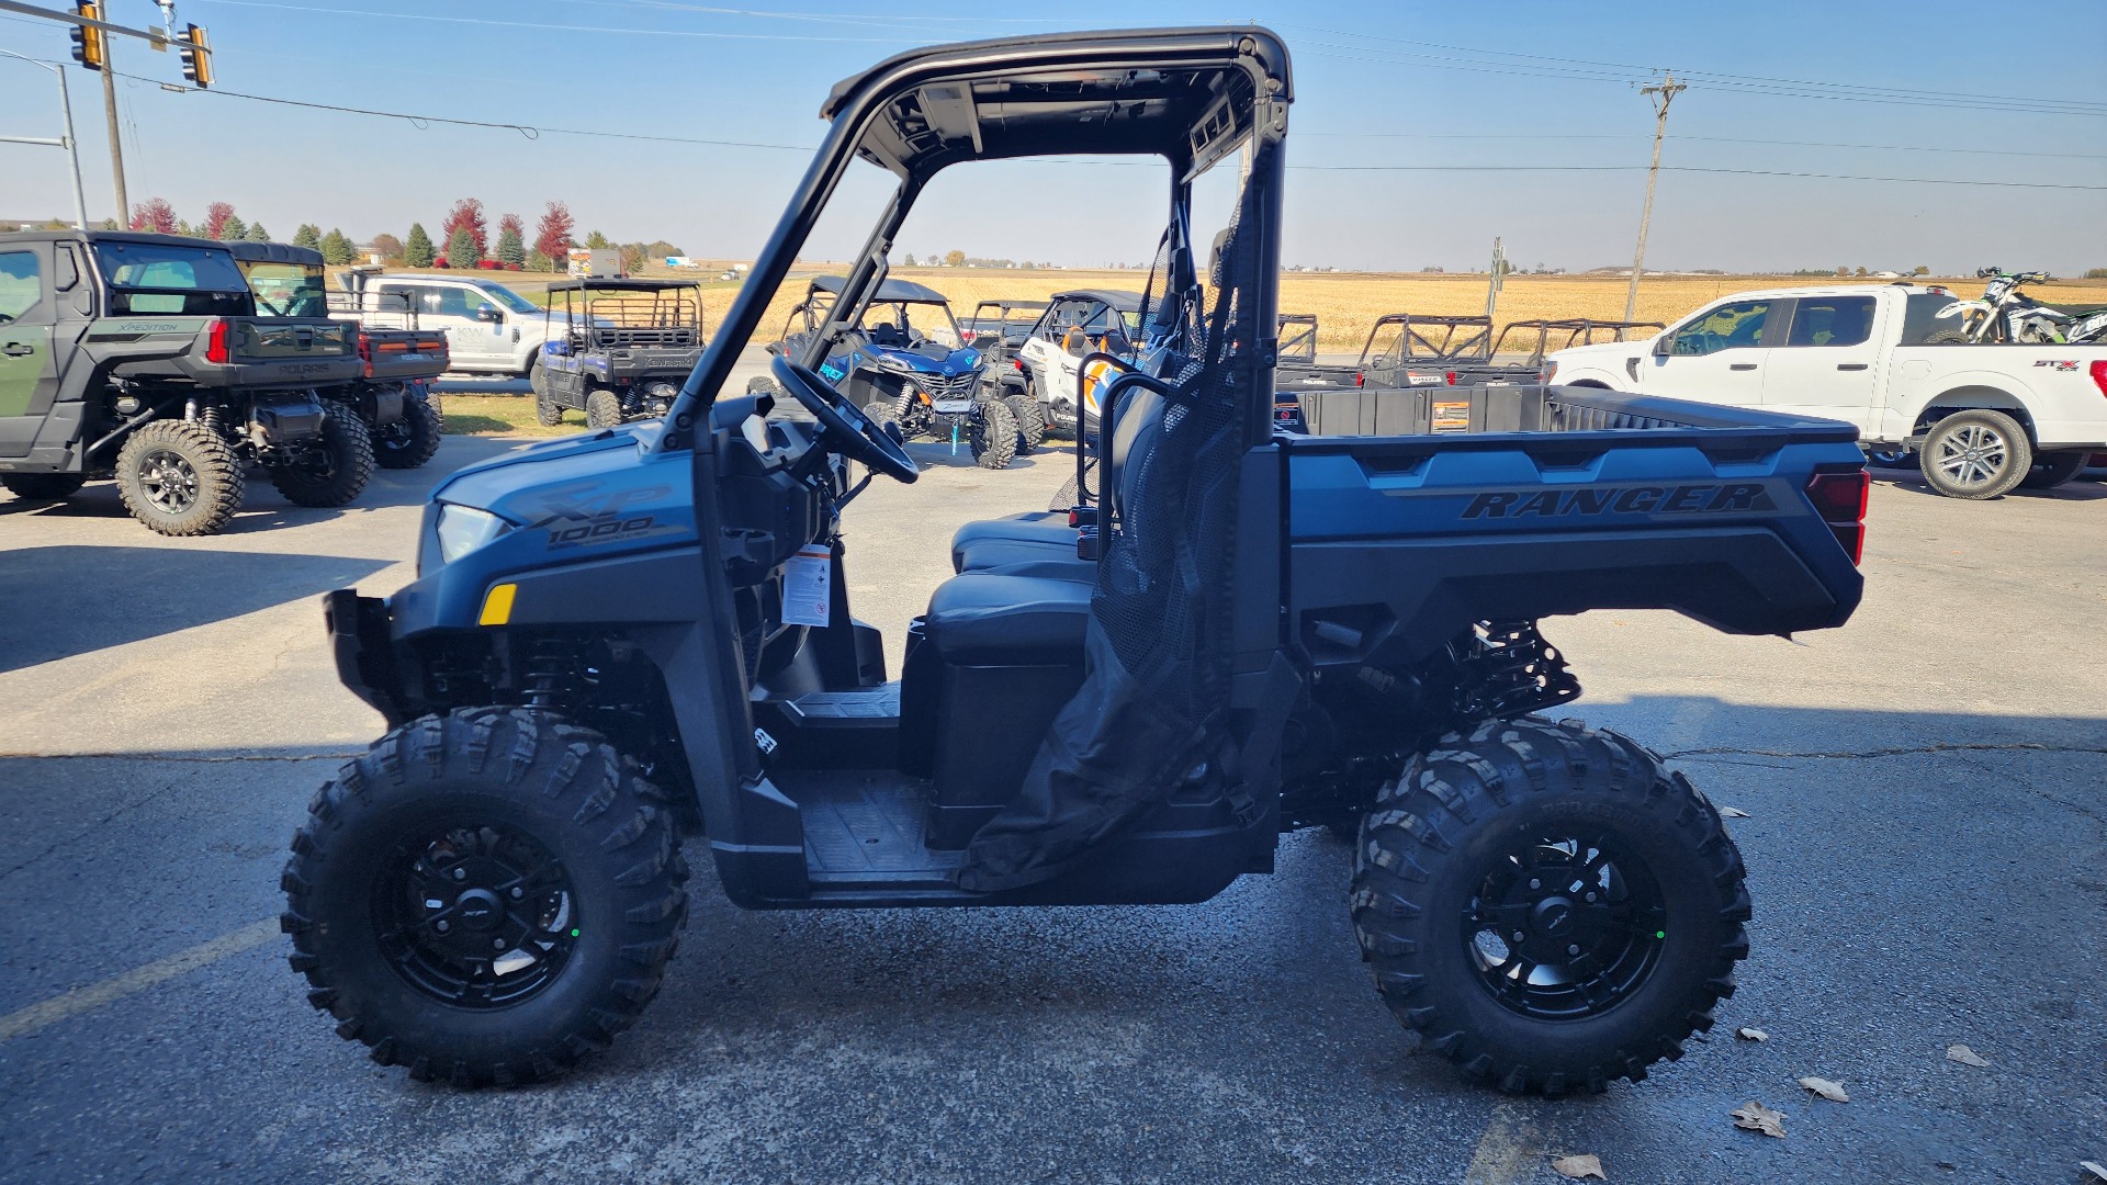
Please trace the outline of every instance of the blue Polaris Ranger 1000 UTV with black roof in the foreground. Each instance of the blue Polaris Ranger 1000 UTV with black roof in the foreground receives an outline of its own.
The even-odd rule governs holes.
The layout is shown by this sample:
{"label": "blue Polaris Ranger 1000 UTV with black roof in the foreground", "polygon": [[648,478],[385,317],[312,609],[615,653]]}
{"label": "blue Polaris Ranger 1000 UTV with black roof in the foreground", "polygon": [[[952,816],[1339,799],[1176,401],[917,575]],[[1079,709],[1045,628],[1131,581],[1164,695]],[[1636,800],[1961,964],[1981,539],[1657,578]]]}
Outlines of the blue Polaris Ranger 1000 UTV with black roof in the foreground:
{"label": "blue Polaris Ranger 1000 UTV with black roof in the foreground", "polygon": [[[1740,854],[1646,746],[1538,715],[1580,687],[1536,622],[1844,624],[1856,434],[1559,388],[1277,434],[1292,97],[1247,25],[931,46],[841,82],[666,417],[457,472],[415,582],[329,595],[341,677],[388,717],[282,881],[337,1033],[459,1086],[563,1071],[657,993],[683,846],[748,909],[1174,905],[1330,824],[1355,831],[1376,993],[1466,1075],[1584,1092],[1681,1054],[1749,949]],[[963,527],[895,681],[843,536],[917,468],[818,367],[942,169],[1108,154],[1161,164],[1165,230],[1146,342],[1096,358],[1104,496]],[[725,384],[851,171],[891,198],[773,358],[809,420],[771,417]]]}

